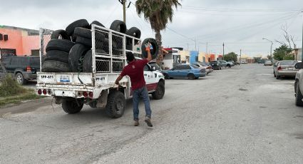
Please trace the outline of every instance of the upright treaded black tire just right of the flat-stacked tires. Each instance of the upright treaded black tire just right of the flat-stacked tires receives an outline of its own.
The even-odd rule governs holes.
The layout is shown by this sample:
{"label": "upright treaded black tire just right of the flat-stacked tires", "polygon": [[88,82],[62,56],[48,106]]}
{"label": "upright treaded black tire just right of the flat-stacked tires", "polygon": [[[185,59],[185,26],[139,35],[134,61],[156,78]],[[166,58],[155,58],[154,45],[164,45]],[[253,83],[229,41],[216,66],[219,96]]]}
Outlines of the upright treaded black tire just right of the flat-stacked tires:
{"label": "upright treaded black tire just right of the flat-stacked tires", "polygon": [[68,56],[68,64],[71,67],[71,71],[78,72],[79,71],[79,59],[84,57],[87,51],[89,51],[91,48],[88,46],[85,46],[81,43],[76,43],[73,48],[71,48],[71,51],[69,52]]}

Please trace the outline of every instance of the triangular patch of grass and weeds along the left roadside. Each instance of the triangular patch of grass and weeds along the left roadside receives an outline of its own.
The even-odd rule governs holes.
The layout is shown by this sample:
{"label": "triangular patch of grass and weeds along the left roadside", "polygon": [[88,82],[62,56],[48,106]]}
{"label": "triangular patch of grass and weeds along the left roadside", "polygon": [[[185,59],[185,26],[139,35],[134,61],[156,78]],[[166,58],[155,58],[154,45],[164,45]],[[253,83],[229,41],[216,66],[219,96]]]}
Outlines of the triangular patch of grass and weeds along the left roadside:
{"label": "triangular patch of grass and weeds along the left roadside", "polygon": [[26,89],[14,81],[11,76],[6,76],[0,85],[0,107],[9,103],[21,103],[21,101],[43,98],[36,95],[33,89]]}

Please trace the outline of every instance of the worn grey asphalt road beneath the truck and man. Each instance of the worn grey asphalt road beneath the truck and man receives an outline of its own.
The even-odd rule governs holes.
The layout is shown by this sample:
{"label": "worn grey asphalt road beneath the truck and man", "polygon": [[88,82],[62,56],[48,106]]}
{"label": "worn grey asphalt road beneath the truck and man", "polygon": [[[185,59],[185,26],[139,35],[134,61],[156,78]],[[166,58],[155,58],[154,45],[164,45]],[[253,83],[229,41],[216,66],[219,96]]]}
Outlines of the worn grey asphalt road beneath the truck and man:
{"label": "worn grey asphalt road beneath the truck and man", "polygon": [[[153,128],[86,107],[65,114],[51,99],[0,109],[0,163],[303,163],[303,108],[294,79],[248,64],[190,81],[165,81],[151,100]],[[12,111],[9,113],[9,111]]]}

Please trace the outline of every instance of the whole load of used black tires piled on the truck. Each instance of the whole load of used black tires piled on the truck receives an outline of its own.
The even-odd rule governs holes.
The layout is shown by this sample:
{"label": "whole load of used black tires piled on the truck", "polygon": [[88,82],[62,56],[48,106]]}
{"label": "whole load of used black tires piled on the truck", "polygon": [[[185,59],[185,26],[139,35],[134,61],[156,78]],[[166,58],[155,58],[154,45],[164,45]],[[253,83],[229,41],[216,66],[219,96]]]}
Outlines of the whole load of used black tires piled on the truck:
{"label": "whole load of used black tires piled on the truck", "polygon": [[[42,71],[43,72],[92,72],[92,33],[91,26],[96,24],[98,26],[103,26],[98,21],[93,21],[88,24],[86,19],[80,19],[74,21],[66,27],[65,30],[59,29],[53,31],[51,34],[51,41],[48,42],[46,46],[46,56],[43,58]],[[104,26],[103,26],[104,27]],[[110,29],[118,31],[122,34],[127,34],[140,39],[141,32],[138,28],[132,27],[130,29],[126,28],[123,21],[115,20],[111,24]],[[123,52],[123,37],[119,35],[113,36],[112,46],[113,55],[119,56]],[[96,40],[96,53],[108,54],[108,34],[97,33],[95,34]],[[144,44],[150,42],[153,46],[153,51],[151,51],[153,58],[158,55],[158,44],[155,39],[145,39],[142,42],[142,48],[145,47]],[[138,41],[135,40],[135,44]],[[131,50],[133,45],[133,40],[130,38],[126,39],[126,49]],[[145,51],[142,54],[143,58],[147,57]],[[96,61],[97,62],[97,61]],[[108,62],[103,60],[98,60],[96,66],[105,65],[103,68],[109,68]],[[115,67],[115,66],[113,66]],[[118,68],[113,68],[113,70],[121,70],[122,65],[116,66]],[[100,67],[102,68],[102,67]],[[98,68],[96,68],[98,69]],[[103,71],[103,70],[97,70]]]}

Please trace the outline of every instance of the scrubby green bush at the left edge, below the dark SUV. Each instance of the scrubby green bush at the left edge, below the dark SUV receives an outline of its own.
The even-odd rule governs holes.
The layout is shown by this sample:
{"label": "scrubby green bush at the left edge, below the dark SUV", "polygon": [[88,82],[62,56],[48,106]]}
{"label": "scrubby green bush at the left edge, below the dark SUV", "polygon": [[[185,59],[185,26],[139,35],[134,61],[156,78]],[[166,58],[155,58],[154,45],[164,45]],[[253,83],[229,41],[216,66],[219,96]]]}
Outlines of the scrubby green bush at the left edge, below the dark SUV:
{"label": "scrubby green bush at the left edge, below the dark SUV", "polygon": [[7,75],[4,80],[1,81],[0,96],[13,96],[25,92],[26,89],[22,88],[10,75]]}

